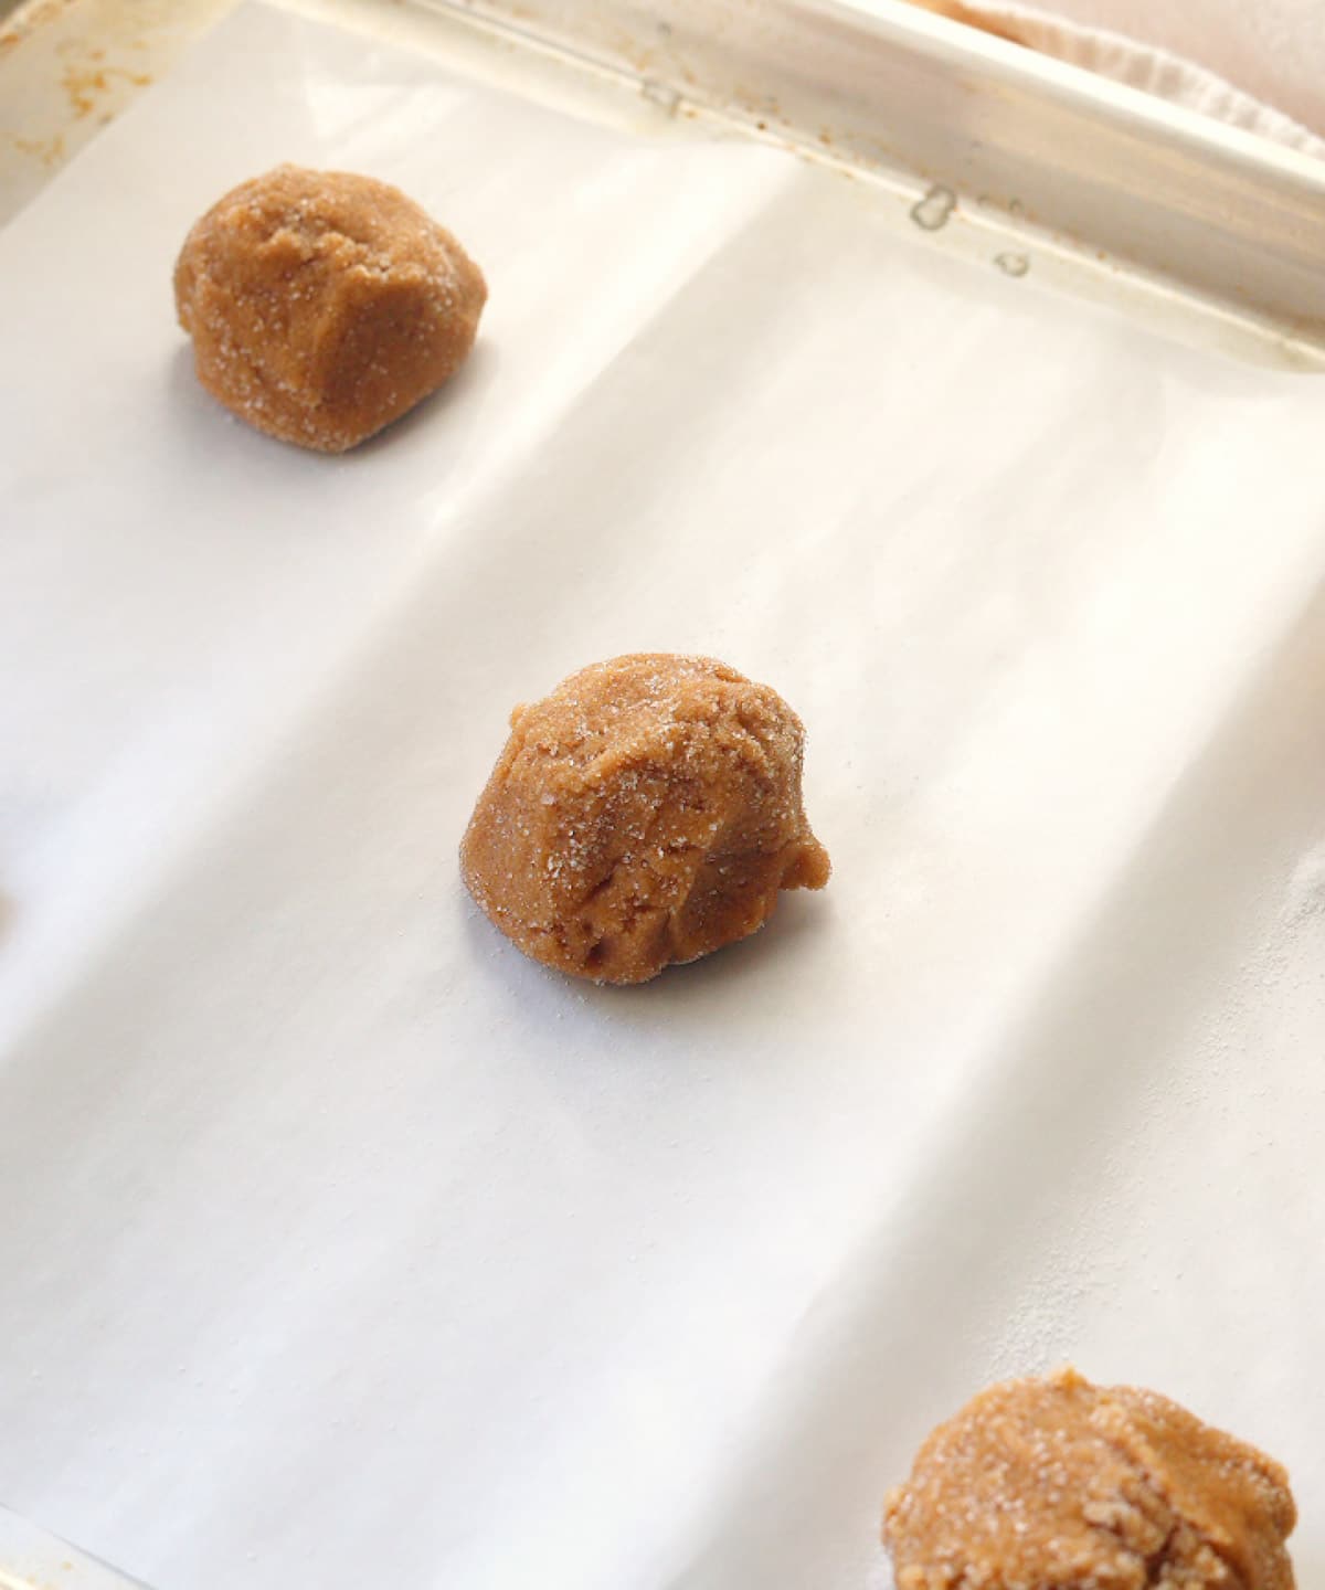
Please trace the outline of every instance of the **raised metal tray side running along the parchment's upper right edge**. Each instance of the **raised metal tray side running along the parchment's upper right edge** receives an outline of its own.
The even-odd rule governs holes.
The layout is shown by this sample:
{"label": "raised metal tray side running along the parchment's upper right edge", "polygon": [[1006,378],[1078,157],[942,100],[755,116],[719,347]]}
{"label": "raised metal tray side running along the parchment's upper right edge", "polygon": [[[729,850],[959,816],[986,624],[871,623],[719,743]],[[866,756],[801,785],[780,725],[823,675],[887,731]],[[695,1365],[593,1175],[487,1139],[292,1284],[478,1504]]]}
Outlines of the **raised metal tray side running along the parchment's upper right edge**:
{"label": "raised metal tray side running along the parchment's upper right edge", "polygon": [[1325,172],[1296,151],[896,0],[452,10],[679,111],[908,192],[923,183],[921,227],[938,231],[961,207],[977,234],[1024,232],[1039,258],[1102,264],[1096,289],[1123,269],[1257,326],[1285,363],[1320,364]]}

